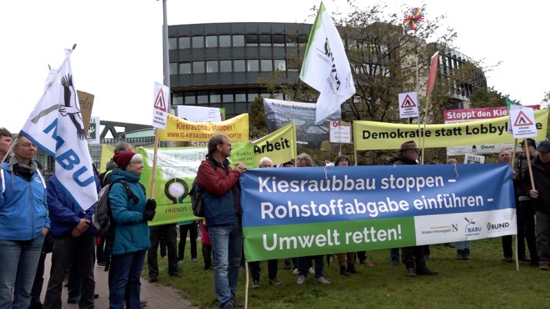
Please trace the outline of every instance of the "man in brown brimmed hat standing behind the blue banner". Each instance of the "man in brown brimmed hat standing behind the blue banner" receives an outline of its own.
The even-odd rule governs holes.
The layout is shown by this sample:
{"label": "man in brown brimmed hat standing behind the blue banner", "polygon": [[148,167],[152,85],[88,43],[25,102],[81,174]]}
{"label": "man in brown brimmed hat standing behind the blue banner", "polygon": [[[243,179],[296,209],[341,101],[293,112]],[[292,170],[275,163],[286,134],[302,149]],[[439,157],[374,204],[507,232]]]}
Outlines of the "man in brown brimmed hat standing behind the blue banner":
{"label": "man in brown brimmed hat standing behind the blue banner", "polygon": [[[394,165],[417,165],[419,157],[419,149],[415,141],[406,141],[399,148],[399,157],[393,163]],[[404,247],[401,248],[401,257],[405,268],[407,269],[408,277],[416,277],[417,275],[437,275],[437,271],[432,271],[426,266],[424,258],[424,246]]]}

